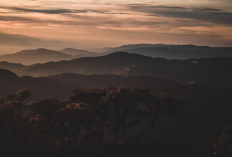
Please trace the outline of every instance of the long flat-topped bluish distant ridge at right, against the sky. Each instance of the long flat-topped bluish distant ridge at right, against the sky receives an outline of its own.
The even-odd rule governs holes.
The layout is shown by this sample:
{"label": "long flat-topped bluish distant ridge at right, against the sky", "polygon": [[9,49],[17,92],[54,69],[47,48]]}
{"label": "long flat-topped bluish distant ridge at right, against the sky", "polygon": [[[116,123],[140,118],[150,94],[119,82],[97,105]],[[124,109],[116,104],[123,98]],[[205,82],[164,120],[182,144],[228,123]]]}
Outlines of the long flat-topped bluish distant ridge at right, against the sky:
{"label": "long flat-topped bluish distant ridge at right, against the sky", "polygon": [[231,47],[207,47],[195,45],[135,44],[123,45],[115,48],[103,48],[95,51],[104,52],[105,54],[123,51],[153,58],[159,57],[182,60],[192,58],[232,57]]}

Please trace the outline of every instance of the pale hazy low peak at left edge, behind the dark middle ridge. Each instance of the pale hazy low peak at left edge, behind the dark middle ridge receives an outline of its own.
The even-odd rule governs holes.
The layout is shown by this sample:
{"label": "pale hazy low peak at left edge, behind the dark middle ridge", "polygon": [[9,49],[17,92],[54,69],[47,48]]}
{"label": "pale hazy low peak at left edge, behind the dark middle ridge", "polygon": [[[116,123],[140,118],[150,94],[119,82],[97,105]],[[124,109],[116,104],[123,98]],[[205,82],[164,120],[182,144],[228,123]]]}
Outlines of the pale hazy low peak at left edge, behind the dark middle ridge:
{"label": "pale hazy low peak at left edge, behind the dark middle ridge", "polygon": [[76,57],[62,52],[40,48],[36,50],[23,50],[14,54],[1,55],[0,61],[31,65],[51,61],[71,60],[74,58]]}

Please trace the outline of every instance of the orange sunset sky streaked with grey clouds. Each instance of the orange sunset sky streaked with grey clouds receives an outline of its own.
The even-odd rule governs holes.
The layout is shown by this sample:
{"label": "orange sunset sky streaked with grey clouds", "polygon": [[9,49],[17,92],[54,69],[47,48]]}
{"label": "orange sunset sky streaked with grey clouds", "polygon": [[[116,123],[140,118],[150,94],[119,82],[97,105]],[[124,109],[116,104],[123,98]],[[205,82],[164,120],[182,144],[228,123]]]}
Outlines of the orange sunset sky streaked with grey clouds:
{"label": "orange sunset sky streaked with grey clouds", "polygon": [[15,44],[14,34],[83,49],[136,43],[231,47],[232,0],[0,0],[0,45]]}

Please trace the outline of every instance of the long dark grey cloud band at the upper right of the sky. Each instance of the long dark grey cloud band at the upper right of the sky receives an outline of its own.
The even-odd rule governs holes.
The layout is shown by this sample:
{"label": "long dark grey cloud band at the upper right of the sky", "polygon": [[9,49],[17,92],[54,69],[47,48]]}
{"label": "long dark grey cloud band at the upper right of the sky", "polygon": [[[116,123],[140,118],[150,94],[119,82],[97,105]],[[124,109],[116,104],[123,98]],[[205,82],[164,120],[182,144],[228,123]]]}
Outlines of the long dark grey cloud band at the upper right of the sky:
{"label": "long dark grey cloud band at the upper right of the sky", "polygon": [[161,15],[165,17],[200,20],[203,23],[232,25],[232,13],[217,8],[187,8],[143,4],[131,4],[128,7],[132,11],[148,13],[150,16]]}

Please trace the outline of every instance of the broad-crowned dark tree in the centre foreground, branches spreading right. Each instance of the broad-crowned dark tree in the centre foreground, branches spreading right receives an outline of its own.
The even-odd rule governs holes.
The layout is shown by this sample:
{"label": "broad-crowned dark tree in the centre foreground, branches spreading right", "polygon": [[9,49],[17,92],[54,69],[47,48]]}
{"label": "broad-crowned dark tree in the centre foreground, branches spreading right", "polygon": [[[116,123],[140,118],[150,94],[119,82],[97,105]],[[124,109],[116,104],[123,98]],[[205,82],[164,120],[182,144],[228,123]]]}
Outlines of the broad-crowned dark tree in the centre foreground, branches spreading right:
{"label": "broad-crowned dark tree in the centre foreground, branches spreading right", "polygon": [[140,128],[142,131],[137,135],[142,137],[160,117],[180,111],[187,102],[165,94],[154,95],[141,87],[109,87],[74,90],[68,103],[81,103],[83,108],[92,111],[92,123],[82,125],[87,135],[95,135],[96,140],[102,143],[106,139],[118,142],[129,128],[141,123],[145,127]]}

